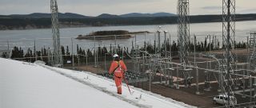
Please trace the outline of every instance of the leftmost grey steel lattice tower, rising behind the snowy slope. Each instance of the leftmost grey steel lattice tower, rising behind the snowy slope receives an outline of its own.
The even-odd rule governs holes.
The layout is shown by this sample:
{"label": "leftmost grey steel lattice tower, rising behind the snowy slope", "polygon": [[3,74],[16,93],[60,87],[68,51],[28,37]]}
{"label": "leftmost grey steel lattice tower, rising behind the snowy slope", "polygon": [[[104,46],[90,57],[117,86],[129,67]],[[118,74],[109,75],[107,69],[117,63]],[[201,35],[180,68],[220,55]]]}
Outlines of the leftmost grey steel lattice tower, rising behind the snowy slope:
{"label": "leftmost grey steel lattice tower, rising behind the snowy slope", "polygon": [[62,65],[62,56],[60,50],[60,39],[59,39],[59,25],[58,25],[58,5],[56,0],[50,0],[50,11],[51,11],[51,22],[52,22],[52,33],[53,33],[53,45],[54,45],[54,66]]}

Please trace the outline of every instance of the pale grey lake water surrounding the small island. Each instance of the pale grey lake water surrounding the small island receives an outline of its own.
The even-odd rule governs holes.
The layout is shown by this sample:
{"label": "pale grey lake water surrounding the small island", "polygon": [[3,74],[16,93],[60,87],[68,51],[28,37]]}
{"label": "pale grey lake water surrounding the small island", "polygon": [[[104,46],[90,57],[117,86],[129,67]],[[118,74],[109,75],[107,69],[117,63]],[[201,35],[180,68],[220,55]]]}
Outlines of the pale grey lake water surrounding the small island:
{"label": "pale grey lake water surrounding the small island", "polygon": [[[250,36],[251,31],[256,31],[256,21],[238,21],[236,22],[236,40],[246,41],[246,37]],[[170,40],[177,41],[177,25],[125,25],[125,26],[104,26],[104,27],[83,27],[83,28],[65,28],[60,29],[61,45],[71,46],[71,38],[78,37],[79,34],[88,34],[95,31],[102,30],[128,30],[130,32],[138,31],[150,31],[150,34],[146,36],[138,35],[136,44],[142,46],[144,40],[147,42],[154,41],[154,33],[157,31],[158,26],[162,27],[162,31],[168,31],[168,38]],[[198,40],[204,40],[207,35],[216,35],[220,41],[222,41],[222,23],[194,23],[190,24],[190,35],[198,36]],[[161,41],[163,42],[164,34],[161,33]],[[7,49],[7,41],[10,44],[10,48],[14,46],[22,47],[23,49],[34,48],[34,40],[36,42],[36,48],[52,47],[52,33],[51,29],[26,29],[26,30],[5,30],[0,31],[0,50]],[[117,40],[117,44],[131,48],[132,41],[135,38]],[[96,40],[96,45],[110,46],[114,44],[114,40]],[[94,48],[94,40],[76,40],[74,39],[74,49],[76,50],[76,44],[82,48]]]}

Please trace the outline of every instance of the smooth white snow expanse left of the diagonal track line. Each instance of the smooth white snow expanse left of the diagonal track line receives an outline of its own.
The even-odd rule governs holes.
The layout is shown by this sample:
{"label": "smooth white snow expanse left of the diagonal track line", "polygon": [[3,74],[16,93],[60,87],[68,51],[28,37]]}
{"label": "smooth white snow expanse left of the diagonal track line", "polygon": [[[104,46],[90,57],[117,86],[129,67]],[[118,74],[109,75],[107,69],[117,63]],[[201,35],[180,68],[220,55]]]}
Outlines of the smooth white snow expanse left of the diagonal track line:
{"label": "smooth white snow expanse left of the diagonal track line", "polygon": [[0,108],[137,108],[37,64],[0,58]]}

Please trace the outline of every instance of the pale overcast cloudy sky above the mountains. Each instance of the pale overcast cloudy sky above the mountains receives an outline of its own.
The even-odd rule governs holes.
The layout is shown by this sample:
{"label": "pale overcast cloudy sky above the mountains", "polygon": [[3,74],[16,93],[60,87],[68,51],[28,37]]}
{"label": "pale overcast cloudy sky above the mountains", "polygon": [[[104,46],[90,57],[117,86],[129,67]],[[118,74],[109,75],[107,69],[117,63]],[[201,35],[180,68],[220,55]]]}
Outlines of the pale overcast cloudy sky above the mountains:
{"label": "pale overcast cloudy sky above the mountains", "polygon": [[[61,13],[176,13],[178,0],[58,0]],[[256,13],[256,0],[236,0],[236,13]],[[0,0],[0,14],[50,13],[50,0]],[[190,0],[190,14],[221,14],[222,0]]]}

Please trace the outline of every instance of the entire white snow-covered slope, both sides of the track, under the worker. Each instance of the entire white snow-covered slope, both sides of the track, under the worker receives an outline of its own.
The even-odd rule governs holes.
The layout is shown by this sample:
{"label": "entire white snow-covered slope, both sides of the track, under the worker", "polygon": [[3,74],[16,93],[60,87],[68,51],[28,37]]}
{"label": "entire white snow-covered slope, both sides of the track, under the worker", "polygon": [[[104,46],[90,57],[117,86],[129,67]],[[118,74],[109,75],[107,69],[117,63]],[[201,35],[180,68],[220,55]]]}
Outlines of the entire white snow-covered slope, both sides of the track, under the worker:
{"label": "entire white snow-covered slope, both sides of the track, under the worker", "polygon": [[0,108],[182,108],[194,107],[86,71],[0,58]]}

